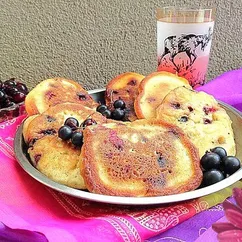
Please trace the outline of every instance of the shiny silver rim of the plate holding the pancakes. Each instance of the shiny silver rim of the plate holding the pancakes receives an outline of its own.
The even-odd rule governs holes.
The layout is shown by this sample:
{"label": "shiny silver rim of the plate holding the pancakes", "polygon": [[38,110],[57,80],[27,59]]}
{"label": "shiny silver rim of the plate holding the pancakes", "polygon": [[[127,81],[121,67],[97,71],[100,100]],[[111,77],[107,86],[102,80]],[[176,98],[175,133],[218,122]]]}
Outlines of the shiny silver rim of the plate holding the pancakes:
{"label": "shiny silver rim of the plate holding the pancakes", "polygon": [[[103,90],[104,89],[95,89],[90,91],[89,93],[92,94]],[[239,116],[242,120],[242,113],[239,112],[237,109],[223,102],[219,101],[219,103],[222,106],[224,106],[226,109],[230,109],[230,111],[232,111],[236,116]],[[23,130],[23,124],[21,124],[18,127],[18,130],[16,132],[16,136],[14,139],[14,152],[18,163],[25,170],[25,172],[27,172],[35,180],[46,185],[47,187],[50,187],[56,191],[65,193],[67,195],[81,198],[81,199],[86,199],[89,201],[118,204],[118,205],[156,205],[156,204],[182,202],[182,201],[199,198],[199,197],[220,191],[234,184],[240,179],[242,179],[242,167],[241,167],[237,172],[235,172],[233,175],[224,179],[221,182],[218,182],[209,187],[200,188],[198,190],[180,193],[180,194],[173,194],[173,195],[167,195],[167,196],[155,196],[155,197],[121,197],[121,196],[108,196],[108,195],[94,194],[88,191],[82,191],[82,190],[78,190],[75,188],[71,188],[71,187],[59,184],[49,179],[41,172],[39,172],[36,168],[34,168],[22,150],[22,145],[23,145],[22,130]]]}

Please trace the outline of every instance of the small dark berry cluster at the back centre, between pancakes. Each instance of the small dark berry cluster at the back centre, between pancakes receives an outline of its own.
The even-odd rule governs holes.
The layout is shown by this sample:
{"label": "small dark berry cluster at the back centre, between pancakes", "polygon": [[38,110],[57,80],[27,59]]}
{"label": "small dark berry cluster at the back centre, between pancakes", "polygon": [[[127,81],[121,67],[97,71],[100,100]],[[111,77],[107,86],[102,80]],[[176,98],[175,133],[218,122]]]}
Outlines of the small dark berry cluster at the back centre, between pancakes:
{"label": "small dark berry cluster at the back centre, between pancakes", "polygon": [[114,110],[111,111],[105,104],[101,104],[97,107],[97,112],[101,113],[106,118],[112,118],[114,120],[123,120],[125,117],[125,102],[122,99],[118,99],[113,103]]}

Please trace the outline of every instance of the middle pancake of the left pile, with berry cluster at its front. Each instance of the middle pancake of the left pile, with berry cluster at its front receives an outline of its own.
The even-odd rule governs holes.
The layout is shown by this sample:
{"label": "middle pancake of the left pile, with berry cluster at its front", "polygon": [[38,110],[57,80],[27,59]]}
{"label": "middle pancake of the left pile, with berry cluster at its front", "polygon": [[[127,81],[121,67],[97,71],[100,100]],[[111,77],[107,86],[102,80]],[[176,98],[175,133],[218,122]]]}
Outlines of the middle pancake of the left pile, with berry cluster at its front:
{"label": "middle pancake of the left pile, with berry cluster at its front", "polygon": [[24,139],[28,145],[46,135],[57,135],[58,129],[69,117],[76,118],[81,124],[87,118],[93,118],[97,123],[105,123],[106,118],[95,109],[90,109],[77,103],[60,103],[50,107],[45,112],[37,115],[34,119],[28,118],[26,122]]}

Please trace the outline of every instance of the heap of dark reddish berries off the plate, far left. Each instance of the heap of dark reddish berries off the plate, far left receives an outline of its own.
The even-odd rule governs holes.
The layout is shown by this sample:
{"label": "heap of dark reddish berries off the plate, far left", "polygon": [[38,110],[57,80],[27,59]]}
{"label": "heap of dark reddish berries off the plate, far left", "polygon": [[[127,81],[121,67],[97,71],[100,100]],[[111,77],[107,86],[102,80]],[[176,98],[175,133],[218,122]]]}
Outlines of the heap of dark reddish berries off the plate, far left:
{"label": "heap of dark reddish berries off the plate, far left", "polygon": [[20,80],[0,80],[0,108],[8,108],[25,100],[28,88]]}

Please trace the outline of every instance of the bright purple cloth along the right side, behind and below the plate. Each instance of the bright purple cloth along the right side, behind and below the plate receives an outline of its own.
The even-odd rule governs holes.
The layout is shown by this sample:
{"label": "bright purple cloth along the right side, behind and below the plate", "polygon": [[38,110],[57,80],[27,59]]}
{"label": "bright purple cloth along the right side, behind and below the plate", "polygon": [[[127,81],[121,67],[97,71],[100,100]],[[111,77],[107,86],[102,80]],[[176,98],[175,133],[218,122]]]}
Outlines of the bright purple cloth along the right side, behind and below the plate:
{"label": "bright purple cloth along the right side, behind and below the plate", "polygon": [[[226,72],[196,90],[211,94],[217,100],[242,112],[242,68]],[[232,198],[230,200],[233,201]],[[211,226],[218,220],[225,220],[224,211],[221,208],[221,205],[217,205],[201,212],[176,227],[149,239],[149,241],[217,241],[217,234]]]}

